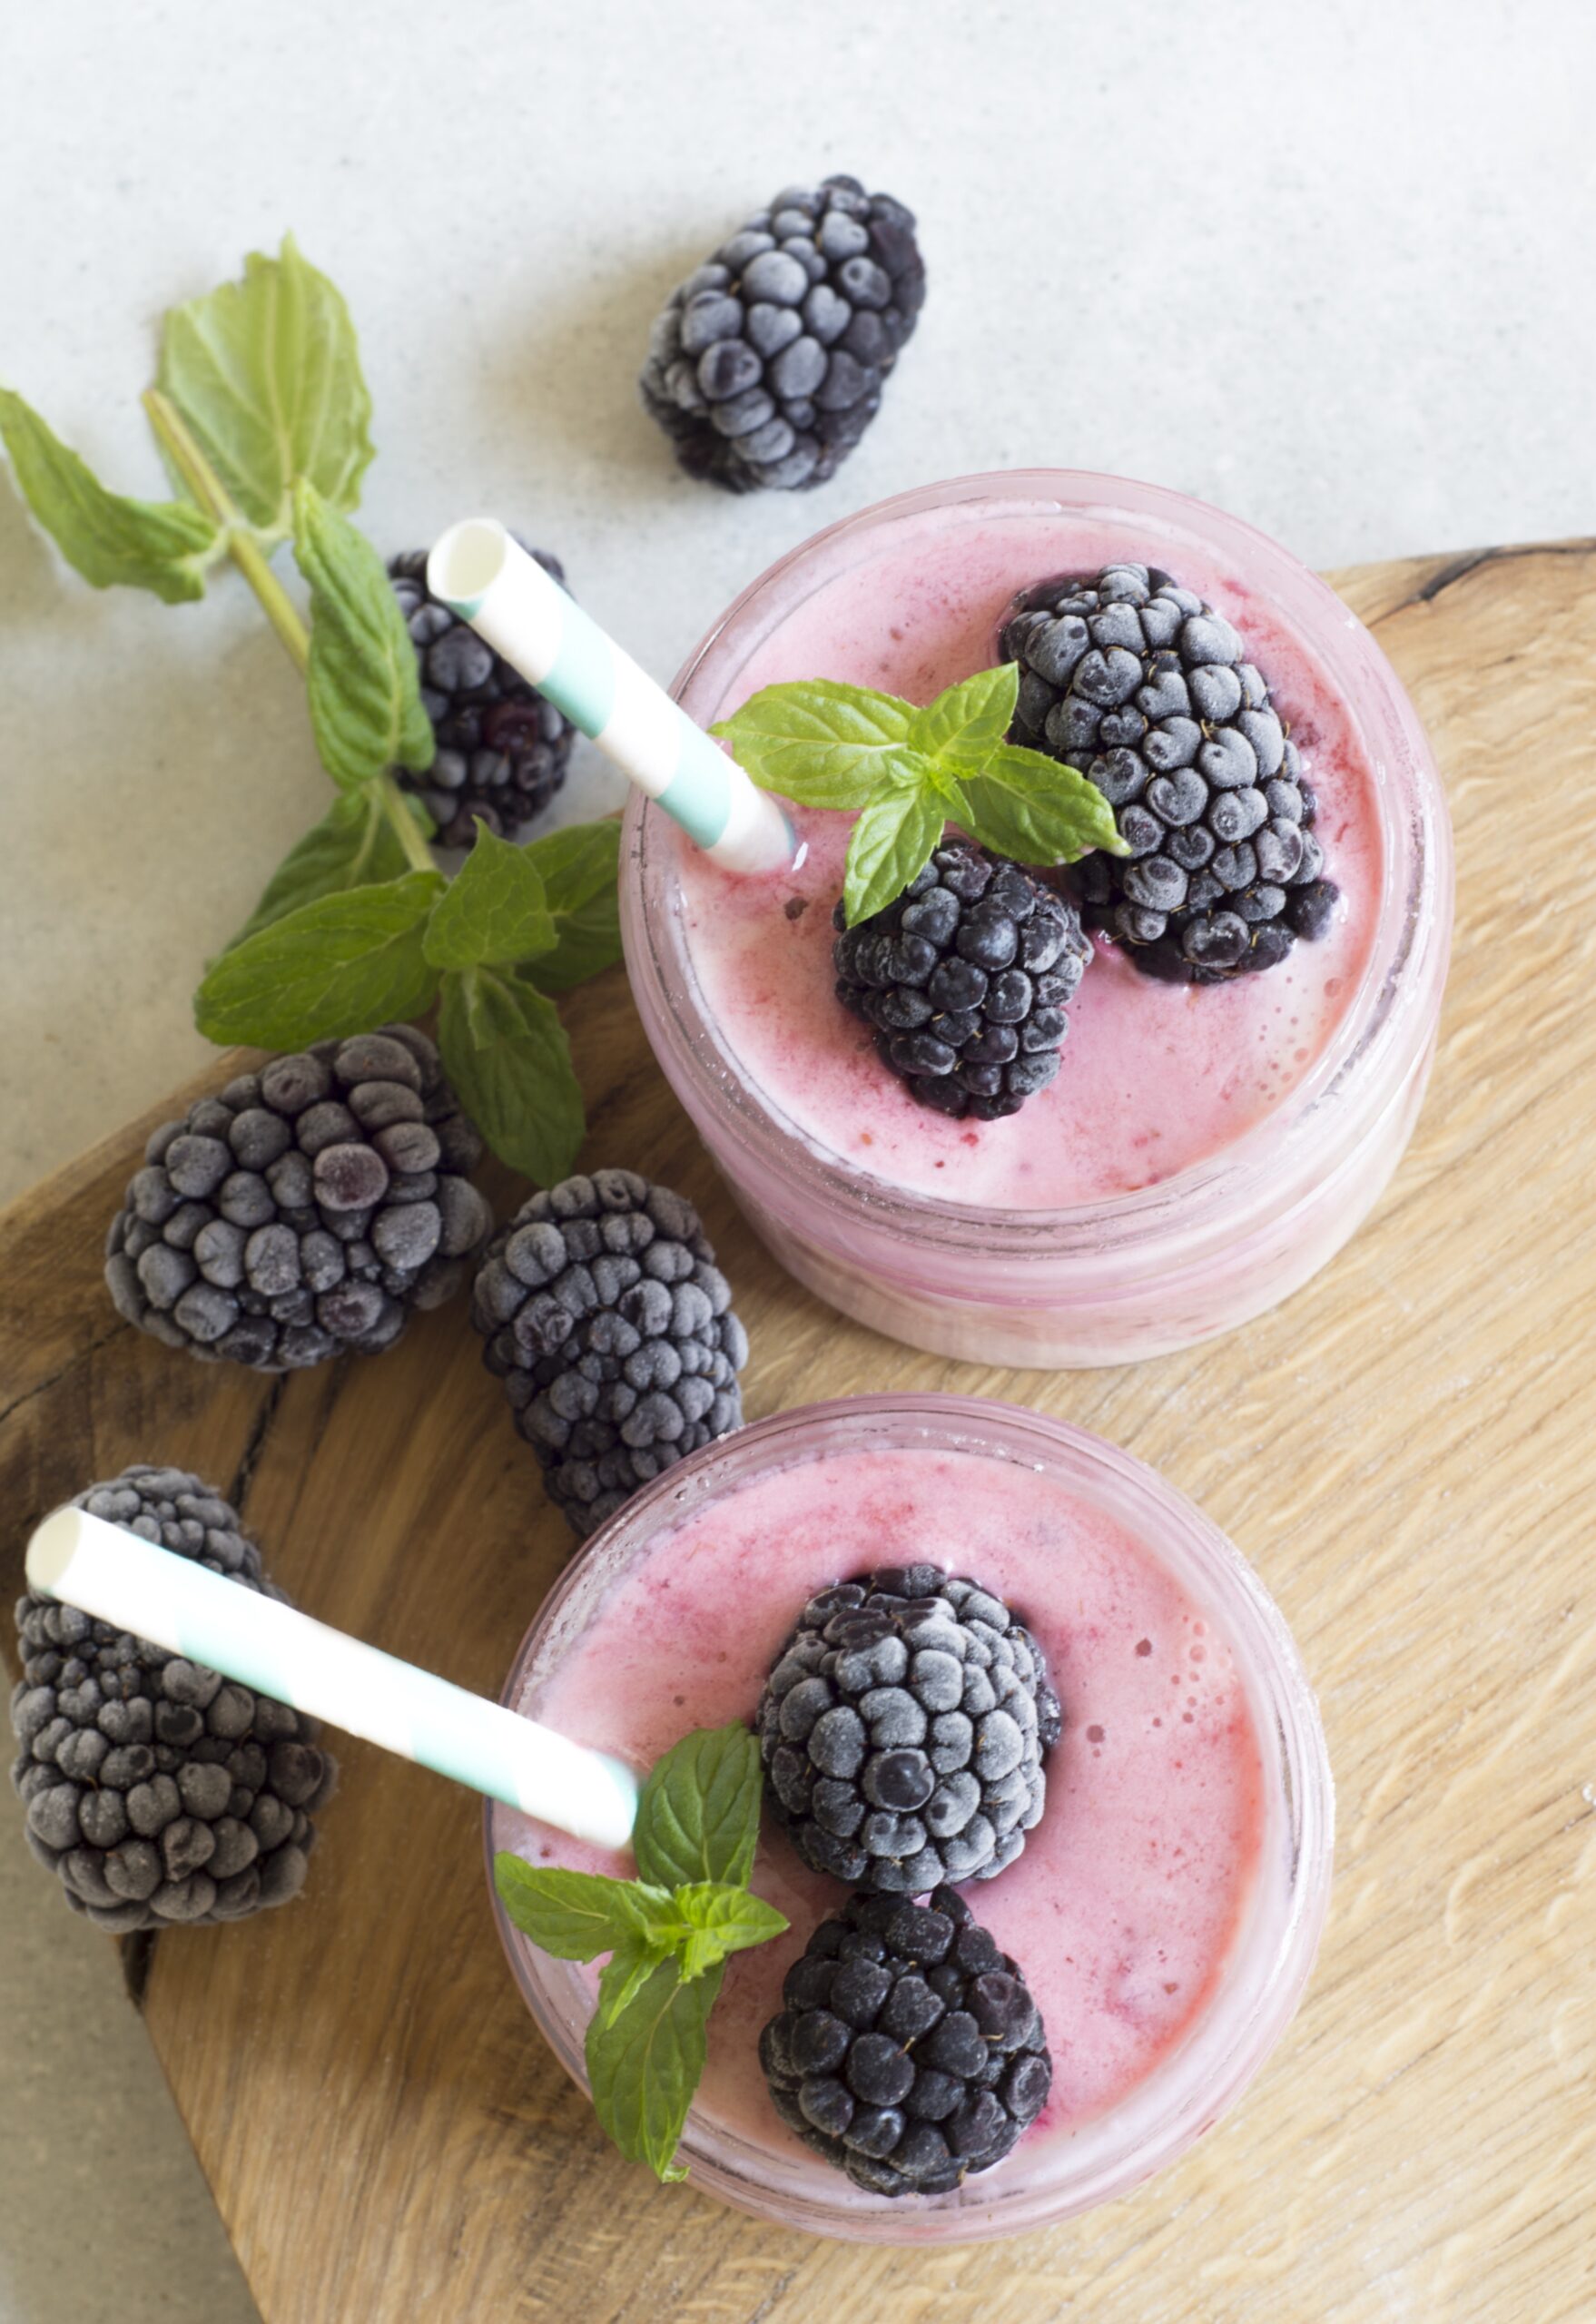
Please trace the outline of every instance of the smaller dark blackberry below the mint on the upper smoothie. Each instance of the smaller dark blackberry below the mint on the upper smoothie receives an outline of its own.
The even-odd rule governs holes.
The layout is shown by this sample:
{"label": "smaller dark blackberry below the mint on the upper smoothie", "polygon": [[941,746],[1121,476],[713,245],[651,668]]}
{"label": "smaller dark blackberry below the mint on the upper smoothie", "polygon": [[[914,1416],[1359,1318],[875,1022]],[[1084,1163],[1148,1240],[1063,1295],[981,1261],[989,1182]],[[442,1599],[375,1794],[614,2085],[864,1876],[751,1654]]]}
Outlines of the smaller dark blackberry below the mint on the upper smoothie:
{"label": "smaller dark blackberry below the mint on the upper smoothie", "polygon": [[957,839],[885,911],[848,927],[839,904],[832,925],[836,999],[922,1106],[997,1122],[1057,1076],[1092,946],[1022,865]]}

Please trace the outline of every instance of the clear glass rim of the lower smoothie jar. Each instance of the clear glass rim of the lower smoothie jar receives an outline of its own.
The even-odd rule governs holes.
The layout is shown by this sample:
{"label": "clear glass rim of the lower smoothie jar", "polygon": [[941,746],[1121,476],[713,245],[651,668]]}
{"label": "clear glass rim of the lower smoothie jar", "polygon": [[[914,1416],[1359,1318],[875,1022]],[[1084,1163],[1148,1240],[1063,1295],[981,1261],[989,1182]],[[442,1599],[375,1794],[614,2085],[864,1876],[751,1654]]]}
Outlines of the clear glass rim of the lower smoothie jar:
{"label": "clear glass rim of the lower smoothie jar", "polygon": [[[890,1427],[906,1432],[890,1436]],[[523,1636],[502,1701],[516,1706],[541,1655],[558,1655],[574,1634],[583,1592],[602,1592],[609,1576],[634,1557],[650,1555],[653,1541],[683,1515],[734,1490],[743,1476],[769,1473],[834,1446],[836,1432],[850,1441],[932,1443],[936,1450],[971,1450],[1018,1459],[1069,1476],[1073,1490],[1115,1513],[1134,1506],[1141,1525],[1134,1538],[1173,1566],[1180,1580],[1196,1578],[1194,1597],[1236,1652],[1236,1666],[1252,1706],[1264,1752],[1266,1836],[1243,1922],[1213,1994],[1173,2050],[1101,2115],[1087,2117],[1069,2140],[1052,2143],[1066,2166],[1045,2180],[1025,2175],[1025,2143],[994,2173],[971,2178],[957,2196],[918,2203],[867,2196],[848,2180],[836,2192],[801,2189],[813,2161],[785,2164],[776,2150],[776,2173],[795,2185],[774,2185],[771,2150],[716,2122],[688,2117],[681,2154],[704,2192],[783,2219],[811,2233],[901,2243],[969,2243],[1073,2217],[1113,2201],[1176,2161],[1243,2094],[1275,2040],[1289,2024],[1313,1959],[1329,1903],[1333,1852],[1333,1780],[1296,1643],[1257,1571],[1203,1511],[1159,1471],[1106,1439],[1027,1406],[948,1392],[887,1392],[841,1397],[797,1406],[750,1422],[704,1446],[667,1469],[604,1525],[571,1559]],[[729,1471],[729,1473],[727,1473]],[[574,1604],[576,1601],[576,1604]],[[539,2031],[565,2071],[585,2089],[581,2031],[560,2010],[555,1987],[571,1985],[567,1961],[544,1964],[509,1922],[493,1887],[495,1815],[486,1808],[483,1848],[495,1924],[511,1973]],[[1273,1866],[1273,1871],[1271,1871]],[[1038,2154],[1050,2152],[1043,2143]],[[829,2178],[829,2173],[827,2173]]]}

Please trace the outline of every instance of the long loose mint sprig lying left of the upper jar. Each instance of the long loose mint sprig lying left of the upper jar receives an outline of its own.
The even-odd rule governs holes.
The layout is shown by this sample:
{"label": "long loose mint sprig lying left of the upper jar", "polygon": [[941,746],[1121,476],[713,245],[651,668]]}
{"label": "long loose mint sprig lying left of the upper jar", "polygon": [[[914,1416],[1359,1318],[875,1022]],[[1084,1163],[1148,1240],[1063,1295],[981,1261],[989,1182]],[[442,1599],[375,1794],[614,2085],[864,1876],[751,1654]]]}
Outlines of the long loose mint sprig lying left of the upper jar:
{"label": "long loose mint sprig lying left of the upper jar", "polygon": [[[244,279],[167,314],[144,409],[177,500],[109,493],[21,395],[0,442],[39,525],[95,588],[204,595],[230,558],[304,676],[335,804],[265,883],[195,995],[214,1041],[300,1048],[439,1006],[444,1069],[493,1150],[551,1183],[576,1162],[583,1099],[553,995],[620,957],[613,823],[516,848],[479,825],[453,883],[432,818],[393,769],[434,739],[416,648],[381,558],[348,521],[372,460],[372,397],[337,288],[293,235]],[[293,539],[309,627],[272,569]]]}

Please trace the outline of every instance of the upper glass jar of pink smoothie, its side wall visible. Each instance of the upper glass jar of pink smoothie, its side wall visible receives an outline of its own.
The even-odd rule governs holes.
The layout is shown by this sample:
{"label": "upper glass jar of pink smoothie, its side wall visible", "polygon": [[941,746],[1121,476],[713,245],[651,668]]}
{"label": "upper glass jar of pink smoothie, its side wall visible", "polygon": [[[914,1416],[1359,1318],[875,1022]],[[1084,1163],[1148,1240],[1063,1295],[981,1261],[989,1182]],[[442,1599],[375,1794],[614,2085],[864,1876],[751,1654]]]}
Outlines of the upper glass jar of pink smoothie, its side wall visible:
{"label": "upper glass jar of pink smoothie, its side wall visible", "polygon": [[1264,535],[1108,476],[966,476],[774,565],[676,681],[692,718],[832,676],[925,702],[997,660],[1013,597],[1157,565],[1241,632],[1317,795],[1331,930],[1287,962],[1166,985],[1099,941],[1052,1088],[1001,1122],[913,1102],[834,997],[850,818],[797,816],[774,881],[634,802],[632,990],[671,1088],[774,1255],[848,1315],[987,1364],[1117,1364],[1294,1292],[1392,1176],[1424,1095],[1452,925],[1440,781],[1389,662]]}

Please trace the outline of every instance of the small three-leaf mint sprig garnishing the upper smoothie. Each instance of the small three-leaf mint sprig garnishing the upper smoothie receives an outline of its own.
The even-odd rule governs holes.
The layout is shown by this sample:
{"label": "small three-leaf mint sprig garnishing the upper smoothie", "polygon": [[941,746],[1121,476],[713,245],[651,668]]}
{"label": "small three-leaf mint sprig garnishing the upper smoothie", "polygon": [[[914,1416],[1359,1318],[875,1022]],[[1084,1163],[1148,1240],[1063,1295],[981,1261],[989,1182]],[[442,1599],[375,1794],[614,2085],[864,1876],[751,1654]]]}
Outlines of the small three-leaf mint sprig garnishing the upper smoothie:
{"label": "small three-leaf mint sprig garnishing the upper smoothie", "polygon": [[857,927],[918,878],[948,823],[1027,865],[1127,853],[1097,783],[1006,741],[1018,695],[1015,662],[978,669],[925,709],[869,686],[801,679],[762,688],[713,732],[764,790],[857,813],[843,874],[843,911]]}

